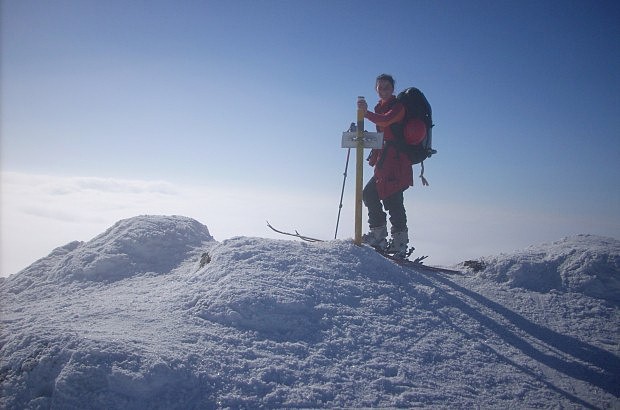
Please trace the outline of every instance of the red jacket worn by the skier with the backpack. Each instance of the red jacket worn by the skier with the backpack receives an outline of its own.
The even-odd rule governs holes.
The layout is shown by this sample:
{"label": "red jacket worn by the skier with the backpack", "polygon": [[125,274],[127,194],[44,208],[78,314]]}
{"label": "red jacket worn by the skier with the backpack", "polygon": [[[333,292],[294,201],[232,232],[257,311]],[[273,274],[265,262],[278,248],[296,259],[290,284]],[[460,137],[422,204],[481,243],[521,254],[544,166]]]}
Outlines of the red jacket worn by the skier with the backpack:
{"label": "red jacket worn by the skier with the backpack", "polygon": [[[392,96],[387,101],[379,101],[375,112],[367,111],[365,117],[376,124],[377,131],[383,132],[384,141],[394,141],[390,125],[405,118],[405,107]],[[399,153],[394,146],[372,150],[368,163],[375,167],[374,175],[380,199],[386,199],[413,186],[411,162],[407,155]]]}

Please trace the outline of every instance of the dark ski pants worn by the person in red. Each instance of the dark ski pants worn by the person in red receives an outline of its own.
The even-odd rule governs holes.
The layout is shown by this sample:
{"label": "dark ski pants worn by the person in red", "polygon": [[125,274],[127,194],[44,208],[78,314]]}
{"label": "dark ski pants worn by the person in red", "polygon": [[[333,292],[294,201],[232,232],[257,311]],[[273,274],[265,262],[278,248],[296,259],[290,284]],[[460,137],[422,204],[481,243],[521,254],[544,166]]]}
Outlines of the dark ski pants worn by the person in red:
{"label": "dark ski pants worn by the person in red", "polygon": [[386,224],[386,213],[383,210],[390,213],[390,223],[392,224],[392,233],[402,232],[407,229],[407,213],[405,212],[405,204],[403,198],[403,191],[397,192],[383,200],[379,199],[377,193],[377,183],[375,177],[370,178],[370,181],[364,188],[364,205],[368,208],[368,225],[371,228],[384,226]]}

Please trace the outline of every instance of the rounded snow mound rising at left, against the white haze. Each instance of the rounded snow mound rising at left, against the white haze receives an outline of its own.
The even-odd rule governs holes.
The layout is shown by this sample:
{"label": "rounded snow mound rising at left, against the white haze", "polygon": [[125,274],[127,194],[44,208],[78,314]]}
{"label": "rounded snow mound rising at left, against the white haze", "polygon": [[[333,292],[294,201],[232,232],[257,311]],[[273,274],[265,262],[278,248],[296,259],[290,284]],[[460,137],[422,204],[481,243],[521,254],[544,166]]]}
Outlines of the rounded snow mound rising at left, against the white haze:
{"label": "rounded snow mound rising at left, against the white haze", "polygon": [[[22,287],[58,279],[111,281],[140,273],[168,273],[188,253],[213,241],[206,226],[183,216],[124,219],[88,242],[53,250],[18,274]],[[19,288],[19,286],[17,286]]]}

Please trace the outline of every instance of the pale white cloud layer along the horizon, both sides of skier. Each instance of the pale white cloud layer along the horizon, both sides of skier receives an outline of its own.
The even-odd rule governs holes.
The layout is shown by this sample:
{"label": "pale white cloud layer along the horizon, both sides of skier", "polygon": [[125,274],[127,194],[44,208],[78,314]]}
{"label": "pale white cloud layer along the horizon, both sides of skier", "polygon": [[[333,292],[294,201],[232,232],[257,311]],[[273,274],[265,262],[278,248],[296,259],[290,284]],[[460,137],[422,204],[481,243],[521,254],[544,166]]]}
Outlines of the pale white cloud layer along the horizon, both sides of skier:
{"label": "pale white cloud layer along the horizon, both sides of skier", "polygon": [[[2,173],[0,273],[8,276],[58,246],[90,240],[120,219],[144,214],[194,218],[219,241],[233,236],[287,239],[269,230],[265,220],[332,239],[340,192],[327,196],[284,189]],[[353,236],[350,190],[343,200],[339,239]],[[617,218],[438,200],[435,195],[419,188],[405,194],[412,244],[433,264],[510,252],[571,234],[618,237],[620,232]]]}

